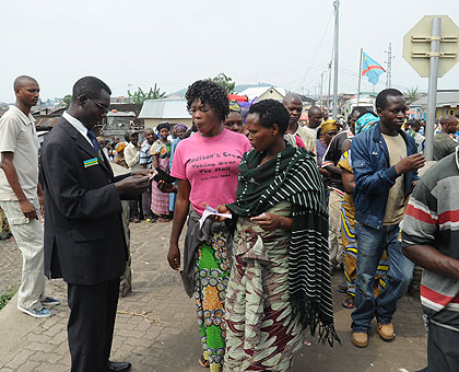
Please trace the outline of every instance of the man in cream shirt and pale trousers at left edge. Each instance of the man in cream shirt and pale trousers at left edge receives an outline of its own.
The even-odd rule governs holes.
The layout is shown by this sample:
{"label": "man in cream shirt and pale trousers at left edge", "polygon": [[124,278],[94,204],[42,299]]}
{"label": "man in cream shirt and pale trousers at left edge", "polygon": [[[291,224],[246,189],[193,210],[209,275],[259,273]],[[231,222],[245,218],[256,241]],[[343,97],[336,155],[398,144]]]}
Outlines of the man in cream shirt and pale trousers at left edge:
{"label": "man in cream shirt and pale trousers at left edge", "polygon": [[31,108],[39,97],[35,79],[14,80],[15,105],[0,119],[0,206],[22,253],[22,281],[17,309],[34,317],[51,315],[44,306],[59,300],[45,295],[43,255],[43,190],[38,184],[38,140]]}

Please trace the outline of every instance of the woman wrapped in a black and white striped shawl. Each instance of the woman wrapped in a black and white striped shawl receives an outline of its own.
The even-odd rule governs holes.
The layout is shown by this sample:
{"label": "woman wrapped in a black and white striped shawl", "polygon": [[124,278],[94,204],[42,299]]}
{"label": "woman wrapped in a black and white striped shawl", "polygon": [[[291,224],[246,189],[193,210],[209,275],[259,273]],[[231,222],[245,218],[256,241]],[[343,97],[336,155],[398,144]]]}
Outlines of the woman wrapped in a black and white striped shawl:
{"label": "woman wrapped in a black and white striped shawl", "polygon": [[325,189],[314,159],[287,144],[289,113],[273,100],[246,119],[254,150],[239,165],[237,199],[221,206],[236,232],[226,292],[224,370],[287,371],[303,330],[332,345]]}

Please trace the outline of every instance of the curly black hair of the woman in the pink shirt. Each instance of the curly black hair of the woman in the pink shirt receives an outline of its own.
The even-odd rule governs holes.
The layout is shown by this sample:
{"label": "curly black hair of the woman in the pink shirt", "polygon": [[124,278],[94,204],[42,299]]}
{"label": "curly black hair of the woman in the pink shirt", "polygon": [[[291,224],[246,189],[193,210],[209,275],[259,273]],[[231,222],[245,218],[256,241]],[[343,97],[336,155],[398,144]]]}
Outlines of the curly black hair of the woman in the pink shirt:
{"label": "curly black hair of the woman in the pink shirt", "polygon": [[185,98],[187,100],[188,111],[191,108],[195,100],[201,100],[202,104],[208,104],[213,108],[222,123],[226,120],[226,116],[229,114],[229,100],[226,91],[222,85],[213,81],[195,81],[188,86]]}

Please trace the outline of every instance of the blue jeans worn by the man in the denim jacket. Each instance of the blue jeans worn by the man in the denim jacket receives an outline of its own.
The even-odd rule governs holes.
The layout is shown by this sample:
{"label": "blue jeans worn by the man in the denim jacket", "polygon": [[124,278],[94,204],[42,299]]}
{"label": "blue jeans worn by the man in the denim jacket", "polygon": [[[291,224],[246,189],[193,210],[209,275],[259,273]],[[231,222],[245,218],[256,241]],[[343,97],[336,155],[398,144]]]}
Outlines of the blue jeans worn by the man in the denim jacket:
{"label": "blue jeans worn by the man in the denim jacket", "polygon": [[[357,280],[352,330],[368,333],[374,316],[382,324],[392,322],[397,301],[404,295],[413,277],[414,264],[403,256],[398,241],[398,224],[377,230],[356,223],[356,233]],[[375,299],[375,274],[385,248],[389,263],[388,278],[386,288]]]}

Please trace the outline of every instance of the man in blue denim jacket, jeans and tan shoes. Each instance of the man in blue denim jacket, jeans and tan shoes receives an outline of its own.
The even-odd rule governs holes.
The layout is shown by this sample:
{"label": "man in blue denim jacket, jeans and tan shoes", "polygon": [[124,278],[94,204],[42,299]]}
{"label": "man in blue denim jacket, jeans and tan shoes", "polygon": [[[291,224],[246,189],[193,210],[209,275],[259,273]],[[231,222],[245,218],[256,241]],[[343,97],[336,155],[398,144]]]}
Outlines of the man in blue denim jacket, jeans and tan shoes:
{"label": "man in blue denim jacket, jeans and tan shoes", "polygon": [[[399,223],[425,158],[416,153],[414,139],[401,130],[407,109],[400,91],[381,91],[376,97],[379,123],[352,141],[358,252],[352,342],[357,347],[368,345],[374,316],[379,336],[392,340],[397,301],[407,291],[413,274],[413,264],[400,247]],[[375,299],[374,278],[384,249],[389,260],[388,281]]]}

